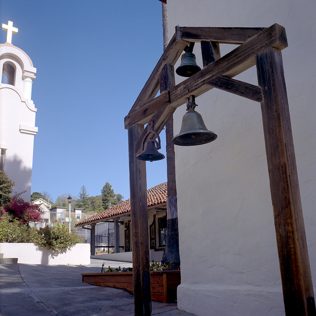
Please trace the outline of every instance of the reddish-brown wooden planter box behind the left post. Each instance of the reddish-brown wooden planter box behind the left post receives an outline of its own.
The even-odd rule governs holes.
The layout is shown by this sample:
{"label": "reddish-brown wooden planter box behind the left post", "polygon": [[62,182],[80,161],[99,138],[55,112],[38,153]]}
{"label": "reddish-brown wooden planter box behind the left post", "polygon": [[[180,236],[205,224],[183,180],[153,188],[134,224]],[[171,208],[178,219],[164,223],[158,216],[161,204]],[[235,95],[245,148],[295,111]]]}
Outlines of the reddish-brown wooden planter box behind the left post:
{"label": "reddish-brown wooden planter box behind the left post", "polygon": [[[81,273],[82,282],[128,290],[133,293],[132,272]],[[172,303],[177,299],[180,271],[154,271],[150,273],[152,300]]]}

